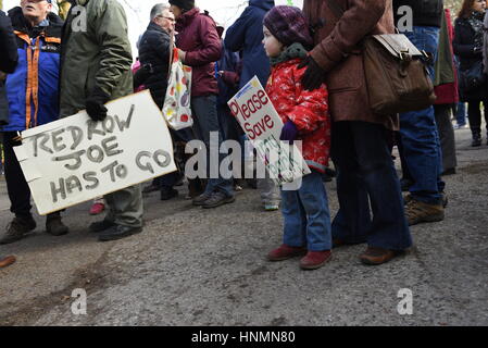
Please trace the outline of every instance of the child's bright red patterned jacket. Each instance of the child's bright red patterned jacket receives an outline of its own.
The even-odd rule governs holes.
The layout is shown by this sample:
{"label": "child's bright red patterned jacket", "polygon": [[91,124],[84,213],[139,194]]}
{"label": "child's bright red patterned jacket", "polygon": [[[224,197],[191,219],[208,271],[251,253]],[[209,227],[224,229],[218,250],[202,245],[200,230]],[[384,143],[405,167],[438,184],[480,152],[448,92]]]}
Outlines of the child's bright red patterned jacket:
{"label": "child's bright red patterned jacket", "polygon": [[272,67],[266,92],[281,121],[296,124],[302,140],[302,154],[311,169],[324,172],[330,152],[330,119],[328,92],[323,85],[314,91],[302,88],[305,69],[298,69],[299,59]]}

